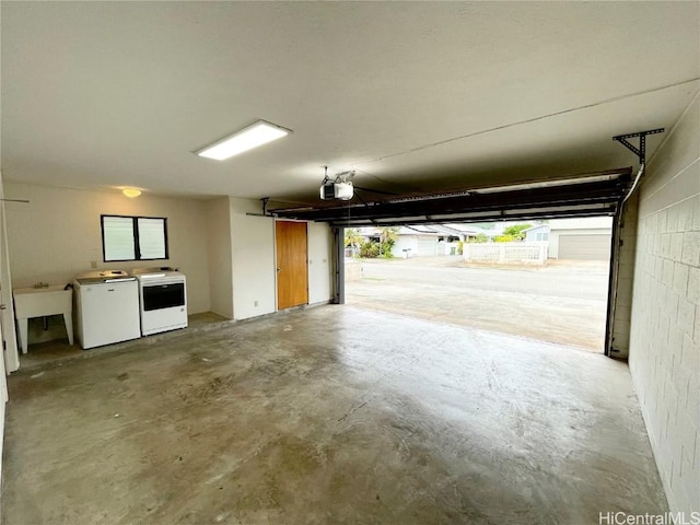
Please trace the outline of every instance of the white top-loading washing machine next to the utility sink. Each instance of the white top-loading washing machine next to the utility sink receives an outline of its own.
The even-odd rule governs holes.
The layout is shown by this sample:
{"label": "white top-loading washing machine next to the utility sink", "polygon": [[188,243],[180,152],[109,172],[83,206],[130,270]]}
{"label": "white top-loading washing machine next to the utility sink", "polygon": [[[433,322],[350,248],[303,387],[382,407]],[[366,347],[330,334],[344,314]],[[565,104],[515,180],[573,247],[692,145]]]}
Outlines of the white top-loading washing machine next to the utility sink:
{"label": "white top-loading washing machine next to the utility sink", "polygon": [[78,342],[83,349],[141,337],[139,284],[122,270],[75,276]]}

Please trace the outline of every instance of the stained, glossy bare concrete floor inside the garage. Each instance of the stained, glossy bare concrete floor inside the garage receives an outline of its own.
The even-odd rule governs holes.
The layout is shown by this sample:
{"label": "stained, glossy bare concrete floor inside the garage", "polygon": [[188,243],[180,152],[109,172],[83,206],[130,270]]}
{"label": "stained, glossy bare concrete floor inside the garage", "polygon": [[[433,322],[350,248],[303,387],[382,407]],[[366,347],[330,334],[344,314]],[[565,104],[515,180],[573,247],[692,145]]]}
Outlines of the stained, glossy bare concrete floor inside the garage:
{"label": "stained, glossy bare concrete floor inside the garage", "polygon": [[351,306],[9,378],[7,524],[596,524],[667,510],[627,365]]}

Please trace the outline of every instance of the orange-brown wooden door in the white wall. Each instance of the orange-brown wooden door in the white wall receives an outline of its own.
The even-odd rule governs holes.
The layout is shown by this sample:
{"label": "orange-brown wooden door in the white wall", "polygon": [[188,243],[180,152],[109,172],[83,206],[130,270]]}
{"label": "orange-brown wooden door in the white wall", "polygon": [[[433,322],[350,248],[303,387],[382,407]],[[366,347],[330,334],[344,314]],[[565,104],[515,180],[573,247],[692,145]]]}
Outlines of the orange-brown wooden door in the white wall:
{"label": "orange-brown wooden door in the white wall", "polygon": [[308,238],[305,222],[277,221],[277,308],[308,303]]}

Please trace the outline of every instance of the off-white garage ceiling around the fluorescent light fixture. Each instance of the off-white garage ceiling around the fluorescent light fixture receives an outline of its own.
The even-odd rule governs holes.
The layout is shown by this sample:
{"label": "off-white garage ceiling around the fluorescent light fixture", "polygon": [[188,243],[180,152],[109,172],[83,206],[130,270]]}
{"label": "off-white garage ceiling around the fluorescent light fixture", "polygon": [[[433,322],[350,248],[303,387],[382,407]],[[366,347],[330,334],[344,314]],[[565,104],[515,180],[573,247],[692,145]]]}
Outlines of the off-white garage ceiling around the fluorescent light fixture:
{"label": "off-white garage ceiling around the fluorescent light fixture", "polygon": [[[699,2],[2,2],[2,175],[316,201],[637,165],[700,89]],[[256,119],[294,132],[191,152]],[[653,153],[663,136],[650,137]]]}

